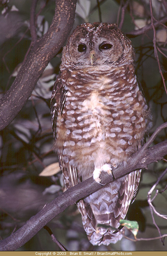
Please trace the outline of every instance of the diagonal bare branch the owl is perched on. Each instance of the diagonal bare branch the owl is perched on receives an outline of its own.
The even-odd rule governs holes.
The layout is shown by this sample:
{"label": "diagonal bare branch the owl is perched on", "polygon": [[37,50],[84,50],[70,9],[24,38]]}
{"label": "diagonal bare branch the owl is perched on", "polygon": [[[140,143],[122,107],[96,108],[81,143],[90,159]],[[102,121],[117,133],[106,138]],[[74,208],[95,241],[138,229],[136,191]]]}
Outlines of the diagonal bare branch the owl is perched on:
{"label": "diagonal bare branch the owl is perched on", "polygon": [[[162,126],[163,128],[167,127],[167,123],[161,125],[161,127]],[[147,145],[149,145],[149,141]],[[102,173],[101,184],[106,185],[136,169],[147,168],[147,165],[150,163],[162,160],[165,154],[167,154],[167,140],[149,148],[145,148],[144,151],[141,148],[129,159],[126,167],[118,167],[117,169],[113,170],[113,175],[111,176],[106,173]],[[42,227],[44,227],[60,212],[63,212],[68,206],[74,204],[89,194],[92,194],[98,189],[101,189],[101,184],[95,182],[93,177],[91,177],[79,183],[75,187],[70,188],[68,191],[65,191],[52,202],[45,205],[40,212],[31,217],[30,220],[28,220],[25,225],[23,225],[23,227],[18,229],[18,231],[11,234],[11,236],[8,238],[0,241],[0,250],[13,251],[21,247],[38,231],[40,231]]]}

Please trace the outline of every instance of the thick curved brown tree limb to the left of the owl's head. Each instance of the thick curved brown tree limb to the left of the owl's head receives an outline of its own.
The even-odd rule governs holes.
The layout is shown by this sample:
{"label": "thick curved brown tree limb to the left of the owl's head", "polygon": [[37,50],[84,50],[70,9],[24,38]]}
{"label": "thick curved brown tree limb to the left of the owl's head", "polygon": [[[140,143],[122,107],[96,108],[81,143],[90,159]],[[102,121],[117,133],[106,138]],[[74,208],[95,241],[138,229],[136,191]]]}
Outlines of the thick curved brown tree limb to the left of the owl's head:
{"label": "thick curved brown tree limb to the left of the owl's head", "polygon": [[50,28],[35,42],[10,89],[0,99],[0,130],[22,109],[48,62],[61,49],[74,23],[75,7],[76,0],[56,0]]}

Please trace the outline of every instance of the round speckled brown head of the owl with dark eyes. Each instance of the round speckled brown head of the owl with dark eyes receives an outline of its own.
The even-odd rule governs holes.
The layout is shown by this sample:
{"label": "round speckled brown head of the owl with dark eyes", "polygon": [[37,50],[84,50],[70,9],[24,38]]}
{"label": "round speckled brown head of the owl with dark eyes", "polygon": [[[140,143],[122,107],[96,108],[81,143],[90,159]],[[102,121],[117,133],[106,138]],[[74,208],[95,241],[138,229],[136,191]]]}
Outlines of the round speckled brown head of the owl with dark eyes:
{"label": "round speckled brown head of the owl with dark eyes", "polygon": [[124,65],[134,61],[131,41],[116,24],[95,22],[74,29],[63,49],[65,67]]}

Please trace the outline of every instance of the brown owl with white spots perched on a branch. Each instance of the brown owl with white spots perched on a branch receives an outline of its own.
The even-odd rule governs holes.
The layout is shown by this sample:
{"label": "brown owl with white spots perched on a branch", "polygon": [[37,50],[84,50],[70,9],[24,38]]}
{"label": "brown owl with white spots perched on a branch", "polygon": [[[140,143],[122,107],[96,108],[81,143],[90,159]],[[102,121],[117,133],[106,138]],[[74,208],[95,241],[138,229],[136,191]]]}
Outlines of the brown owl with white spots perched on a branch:
{"label": "brown owl with white spots perched on a branch", "polygon": [[[151,114],[134,58],[131,41],[116,24],[81,24],[68,38],[51,99],[54,149],[67,189],[91,176],[101,182],[102,171],[126,166],[143,145]],[[135,199],[140,172],[77,203],[93,245],[116,243],[124,235],[119,220]]]}

